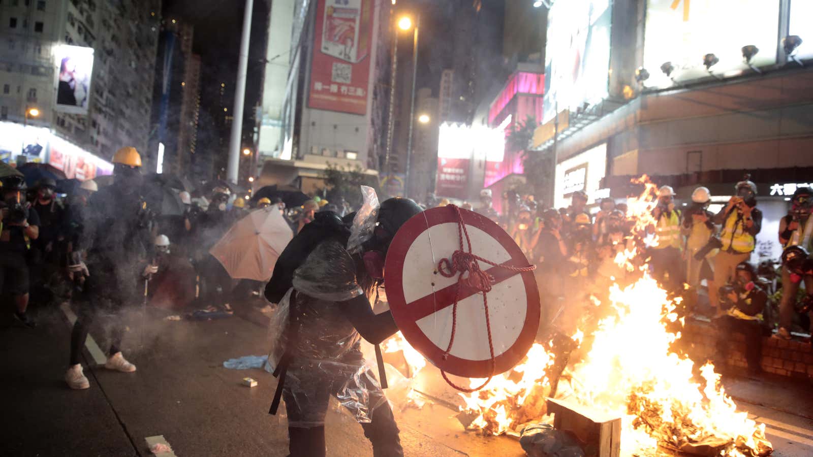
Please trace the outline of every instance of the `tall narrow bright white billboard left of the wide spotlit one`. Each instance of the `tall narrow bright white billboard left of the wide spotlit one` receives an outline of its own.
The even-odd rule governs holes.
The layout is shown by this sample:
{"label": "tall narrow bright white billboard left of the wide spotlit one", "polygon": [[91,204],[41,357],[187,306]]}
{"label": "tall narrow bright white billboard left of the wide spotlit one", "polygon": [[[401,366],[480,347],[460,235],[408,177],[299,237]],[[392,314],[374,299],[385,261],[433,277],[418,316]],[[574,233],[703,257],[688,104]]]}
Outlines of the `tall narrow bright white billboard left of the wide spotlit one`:
{"label": "tall narrow bright white billboard left of the wide spotlit one", "polygon": [[610,70],[610,0],[555,2],[548,11],[542,122],[557,111],[607,96]]}

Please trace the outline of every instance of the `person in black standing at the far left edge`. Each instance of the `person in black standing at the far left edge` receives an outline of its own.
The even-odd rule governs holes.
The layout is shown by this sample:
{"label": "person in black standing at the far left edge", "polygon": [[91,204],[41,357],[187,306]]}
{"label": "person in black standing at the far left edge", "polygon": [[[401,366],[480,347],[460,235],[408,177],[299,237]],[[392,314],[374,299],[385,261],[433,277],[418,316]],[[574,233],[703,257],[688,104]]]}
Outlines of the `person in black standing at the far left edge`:
{"label": "person in black standing at the far left edge", "polygon": [[[28,248],[40,235],[37,211],[25,202],[23,176],[2,180],[0,203],[0,291],[14,296],[14,316],[26,327],[37,324],[25,313],[28,308]],[[5,286],[5,287],[4,287]]]}

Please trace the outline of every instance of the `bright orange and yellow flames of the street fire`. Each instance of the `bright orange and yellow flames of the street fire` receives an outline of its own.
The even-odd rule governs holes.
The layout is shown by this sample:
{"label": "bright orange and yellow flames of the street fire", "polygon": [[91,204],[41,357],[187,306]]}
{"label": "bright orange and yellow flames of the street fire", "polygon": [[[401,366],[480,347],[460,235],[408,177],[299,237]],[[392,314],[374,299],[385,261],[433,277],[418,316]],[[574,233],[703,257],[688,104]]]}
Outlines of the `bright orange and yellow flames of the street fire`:
{"label": "bright orange and yellow flames of the street fire", "polygon": [[[534,344],[523,363],[494,376],[485,389],[460,394],[465,407],[459,418],[467,429],[487,435],[519,433],[546,421],[546,399],[559,398],[620,417],[624,455],[656,454],[660,448],[694,455],[769,455],[764,424],[737,411],[711,363],[698,368],[673,349],[683,324],[676,313],[680,298],[671,298],[650,277],[636,253],[656,195],[646,176],[639,184],[644,192],[630,199],[627,212],[634,224],[632,242],[615,256],[634,276],[619,281],[623,287],[616,282],[593,294],[582,305],[587,317],[572,337],[559,334]],[[650,238],[646,245],[653,242]],[[390,340],[385,348],[403,350],[411,366],[421,365],[406,341]],[[471,380],[472,386],[481,383]]]}

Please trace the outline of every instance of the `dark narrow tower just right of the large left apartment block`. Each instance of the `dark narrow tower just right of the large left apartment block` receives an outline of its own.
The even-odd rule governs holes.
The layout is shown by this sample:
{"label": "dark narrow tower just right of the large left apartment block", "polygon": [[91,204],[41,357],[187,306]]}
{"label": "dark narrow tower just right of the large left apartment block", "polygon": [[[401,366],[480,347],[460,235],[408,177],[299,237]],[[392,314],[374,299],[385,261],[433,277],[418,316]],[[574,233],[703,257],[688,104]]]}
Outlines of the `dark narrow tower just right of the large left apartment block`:
{"label": "dark narrow tower just right of the large left apartment block", "polygon": [[191,24],[164,18],[155,65],[149,155],[161,160],[157,169],[181,176],[191,172],[198,134],[201,65],[192,52],[192,40]]}

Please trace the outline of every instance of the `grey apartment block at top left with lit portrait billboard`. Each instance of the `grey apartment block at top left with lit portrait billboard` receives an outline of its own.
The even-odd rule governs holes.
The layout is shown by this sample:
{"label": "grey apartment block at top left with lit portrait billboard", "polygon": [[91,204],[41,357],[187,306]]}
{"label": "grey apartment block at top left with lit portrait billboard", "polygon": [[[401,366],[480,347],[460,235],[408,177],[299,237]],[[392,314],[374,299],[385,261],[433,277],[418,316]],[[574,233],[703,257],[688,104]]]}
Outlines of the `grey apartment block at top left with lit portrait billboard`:
{"label": "grey apartment block at top left with lit portrait billboard", "polygon": [[[52,135],[102,159],[111,159],[120,146],[143,153],[150,136],[160,7],[160,0],[0,3],[0,120],[50,128]],[[88,67],[65,54],[66,45],[93,50],[90,75],[79,73]],[[71,75],[84,82],[76,84]],[[58,103],[56,81],[63,86],[59,97],[69,102]],[[37,116],[28,115],[32,108]]]}

